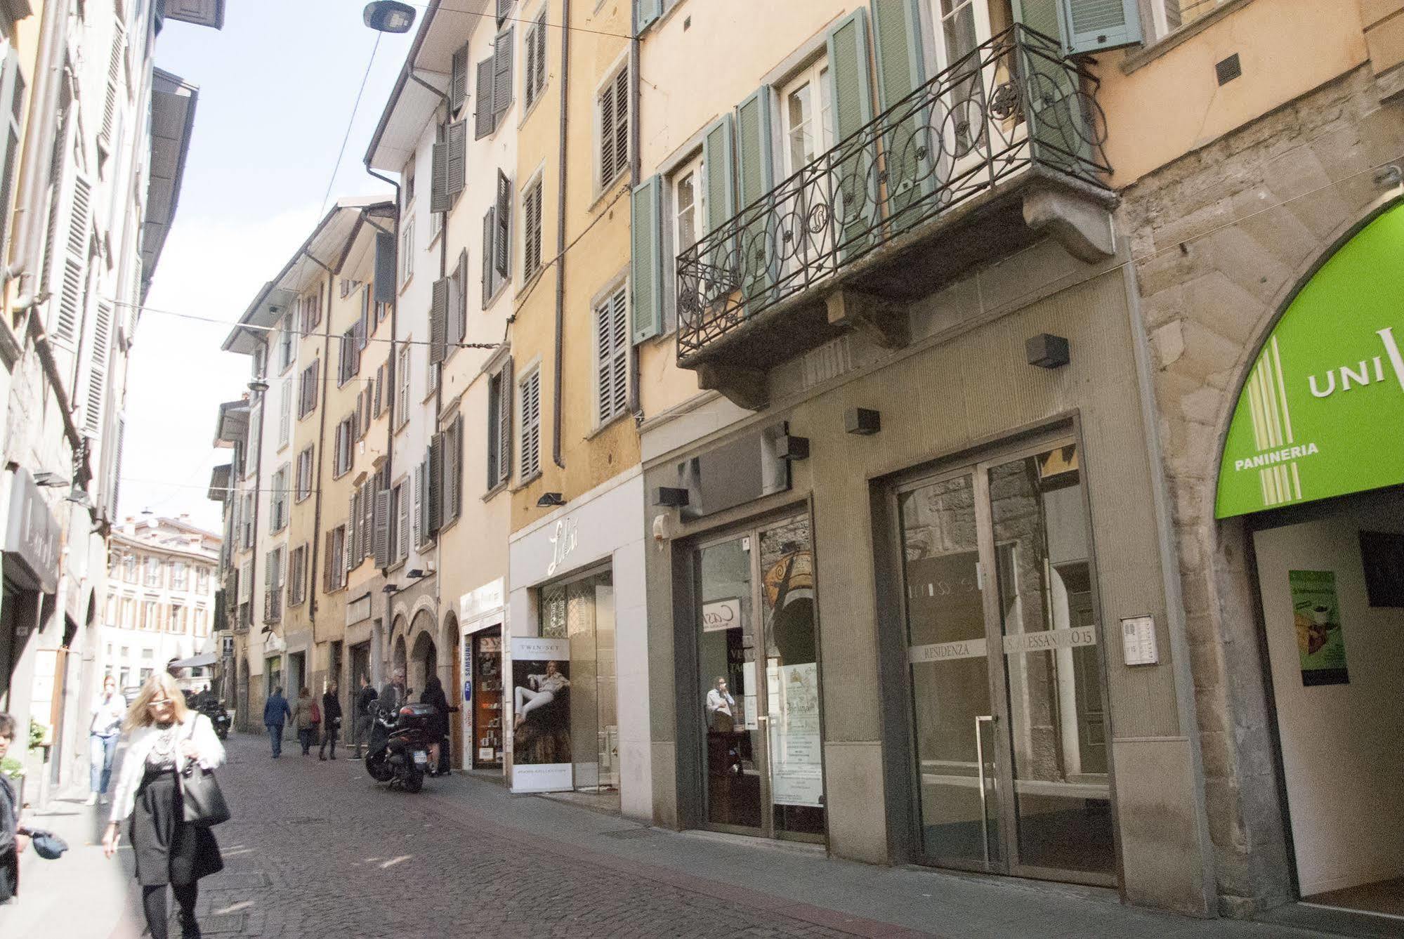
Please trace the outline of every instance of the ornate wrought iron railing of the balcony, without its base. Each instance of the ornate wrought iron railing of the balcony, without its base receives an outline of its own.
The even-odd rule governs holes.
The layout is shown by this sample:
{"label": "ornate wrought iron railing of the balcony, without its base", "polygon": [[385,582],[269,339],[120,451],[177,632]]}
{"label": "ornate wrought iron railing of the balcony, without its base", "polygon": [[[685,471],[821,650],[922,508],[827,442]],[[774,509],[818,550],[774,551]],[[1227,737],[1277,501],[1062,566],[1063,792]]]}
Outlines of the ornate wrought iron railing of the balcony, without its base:
{"label": "ornate wrought iron railing of the balcony, without its base", "polygon": [[976,46],[678,255],[680,364],[1029,167],[1104,185],[1097,86],[1024,25]]}

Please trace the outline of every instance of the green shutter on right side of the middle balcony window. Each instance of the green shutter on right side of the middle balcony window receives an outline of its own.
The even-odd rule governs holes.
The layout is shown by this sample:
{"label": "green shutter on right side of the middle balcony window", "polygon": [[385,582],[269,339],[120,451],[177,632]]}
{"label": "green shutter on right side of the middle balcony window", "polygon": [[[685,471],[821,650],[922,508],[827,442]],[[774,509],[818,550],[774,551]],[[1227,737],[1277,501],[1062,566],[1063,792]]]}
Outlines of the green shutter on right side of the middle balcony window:
{"label": "green shutter on right side of the middle balcony window", "polygon": [[858,7],[828,31],[828,72],[834,108],[834,138],[840,152],[831,166],[838,177],[834,233],[840,257],[870,246],[878,212],[878,153],[875,140],[844,139],[873,119],[868,65],[868,11]]}

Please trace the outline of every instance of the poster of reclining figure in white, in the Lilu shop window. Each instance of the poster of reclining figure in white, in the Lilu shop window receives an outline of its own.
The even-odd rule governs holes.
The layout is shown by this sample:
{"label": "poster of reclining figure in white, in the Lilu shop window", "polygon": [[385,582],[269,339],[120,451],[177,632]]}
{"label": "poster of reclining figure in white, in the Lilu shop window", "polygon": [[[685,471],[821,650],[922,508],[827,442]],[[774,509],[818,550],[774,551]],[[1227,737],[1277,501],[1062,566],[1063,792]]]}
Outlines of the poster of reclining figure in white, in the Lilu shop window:
{"label": "poster of reclining figure in white, in the Lilu shop window", "polygon": [[570,762],[570,640],[514,636],[512,792],[574,787]]}

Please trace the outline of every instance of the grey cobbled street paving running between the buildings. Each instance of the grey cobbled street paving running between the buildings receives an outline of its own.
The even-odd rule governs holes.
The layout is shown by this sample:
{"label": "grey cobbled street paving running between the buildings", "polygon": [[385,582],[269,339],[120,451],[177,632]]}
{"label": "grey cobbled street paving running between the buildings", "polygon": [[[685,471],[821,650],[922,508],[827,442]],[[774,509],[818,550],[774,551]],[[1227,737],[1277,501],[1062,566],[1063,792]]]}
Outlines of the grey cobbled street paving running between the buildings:
{"label": "grey cobbled street paving running between the buildings", "polygon": [[[809,846],[677,834],[470,776],[420,794],[355,761],[268,758],[233,735],[218,828],[225,872],[201,884],[206,936],[1269,936],[1282,926],[1123,907],[1111,891],[831,860]],[[131,852],[101,858],[79,803],[38,818],[69,838],[28,855],[0,936],[140,933]],[[178,933],[177,933],[178,935]]]}

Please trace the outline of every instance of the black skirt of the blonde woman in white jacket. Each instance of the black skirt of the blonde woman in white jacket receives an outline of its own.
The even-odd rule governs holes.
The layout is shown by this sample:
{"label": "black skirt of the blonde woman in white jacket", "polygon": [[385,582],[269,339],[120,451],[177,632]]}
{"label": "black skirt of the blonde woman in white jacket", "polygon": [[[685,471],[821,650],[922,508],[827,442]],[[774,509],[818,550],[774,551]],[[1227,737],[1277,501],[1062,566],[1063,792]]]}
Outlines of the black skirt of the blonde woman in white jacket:
{"label": "black skirt of the blonde woman in white jacket", "polygon": [[176,771],[147,771],[132,811],[136,880],[143,887],[190,884],[225,867],[209,828],[187,825]]}

